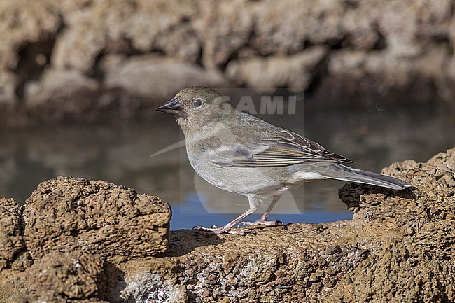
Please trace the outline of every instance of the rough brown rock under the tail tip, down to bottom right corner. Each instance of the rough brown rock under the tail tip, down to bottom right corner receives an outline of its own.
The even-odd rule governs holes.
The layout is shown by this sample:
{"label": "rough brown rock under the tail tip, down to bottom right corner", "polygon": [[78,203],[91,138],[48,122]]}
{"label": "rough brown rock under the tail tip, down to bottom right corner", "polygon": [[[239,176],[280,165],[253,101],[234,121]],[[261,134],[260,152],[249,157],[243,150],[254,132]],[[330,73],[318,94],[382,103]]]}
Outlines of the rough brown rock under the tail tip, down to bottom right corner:
{"label": "rough brown rock under the tail tip, down to bottom right corner", "polygon": [[426,163],[392,164],[382,173],[406,178],[417,190],[398,195],[353,184],[340,190],[343,201],[356,208],[353,224],[377,226],[393,237],[383,239],[379,251],[339,283],[332,300],[453,301],[455,148]]}

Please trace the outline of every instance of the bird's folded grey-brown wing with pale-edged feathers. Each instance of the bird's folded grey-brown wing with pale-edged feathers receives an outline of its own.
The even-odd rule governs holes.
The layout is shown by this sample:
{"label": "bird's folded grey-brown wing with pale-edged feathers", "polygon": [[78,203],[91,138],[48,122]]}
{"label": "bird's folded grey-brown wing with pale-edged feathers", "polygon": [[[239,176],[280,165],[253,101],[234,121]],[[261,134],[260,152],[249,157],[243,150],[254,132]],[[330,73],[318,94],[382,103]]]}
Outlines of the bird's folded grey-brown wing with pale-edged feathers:
{"label": "bird's folded grey-brown wing with pale-edged feathers", "polygon": [[284,167],[309,161],[351,163],[318,143],[280,129],[267,139],[220,146],[211,151],[211,160],[222,167]]}

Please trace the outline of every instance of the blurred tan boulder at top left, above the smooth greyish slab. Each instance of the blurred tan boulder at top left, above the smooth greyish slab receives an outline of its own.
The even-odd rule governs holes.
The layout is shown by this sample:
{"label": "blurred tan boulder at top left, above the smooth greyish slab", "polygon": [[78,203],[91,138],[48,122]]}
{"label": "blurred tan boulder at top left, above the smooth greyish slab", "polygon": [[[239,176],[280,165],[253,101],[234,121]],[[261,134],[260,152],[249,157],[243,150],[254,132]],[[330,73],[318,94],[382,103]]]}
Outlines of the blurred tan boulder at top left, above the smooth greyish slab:
{"label": "blurred tan boulder at top left, above the smooth greyish slab", "polygon": [[59,68],[92,73],[103,50],[125,55],[159,50],[172,57],[199,57],[201,43],[188,27],[188,18],[197,15],[193,1],[61,4],[58,9],[68,26],[55,45],[53,63]]}

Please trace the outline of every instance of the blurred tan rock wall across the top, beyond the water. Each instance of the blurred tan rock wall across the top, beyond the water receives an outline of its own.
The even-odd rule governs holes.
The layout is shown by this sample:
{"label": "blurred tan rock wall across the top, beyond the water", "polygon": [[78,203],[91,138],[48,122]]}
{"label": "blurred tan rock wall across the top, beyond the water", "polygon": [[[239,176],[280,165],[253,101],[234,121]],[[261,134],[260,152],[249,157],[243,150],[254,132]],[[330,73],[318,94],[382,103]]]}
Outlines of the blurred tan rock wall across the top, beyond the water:
{"label": "blurred tan rock wall across the top, beyond the water", "polygon": [[286,87],[321,104],[453,103],[454,8],[454,0],[1,1],[0,118],[132,115],[188,85]]}

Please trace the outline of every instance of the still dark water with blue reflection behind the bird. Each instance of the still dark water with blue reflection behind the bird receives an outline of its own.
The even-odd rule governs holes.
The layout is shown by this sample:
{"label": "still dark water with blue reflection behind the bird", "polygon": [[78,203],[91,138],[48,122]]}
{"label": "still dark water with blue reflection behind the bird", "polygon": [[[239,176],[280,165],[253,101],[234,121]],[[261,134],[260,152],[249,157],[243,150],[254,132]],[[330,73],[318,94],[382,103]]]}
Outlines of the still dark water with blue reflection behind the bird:
{"label": "still dark water with blue reflection behind the bird", "polygon": [[[392,162],[426,161],[455,146],[453,115],[442,106],[303,111],[261,118],[304,134],[349,157],[353,167],[380,171]],[[214,188],[194,173],[172,116],[0,130],[0,197],[23,203],[39,182],[59,175],[103,179],[158,195],[172,205],[171,229],[223,225],[248,208],[245,197]],[[174,144],[166,153],[155,153]],[[153,155],[153,156],[152,156]],[[352,218],[338,198],[342,181],[317,181],[283,195],[271,220],[327,222]],[[265,211],[265,205],[255,220]]]}

